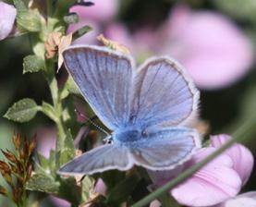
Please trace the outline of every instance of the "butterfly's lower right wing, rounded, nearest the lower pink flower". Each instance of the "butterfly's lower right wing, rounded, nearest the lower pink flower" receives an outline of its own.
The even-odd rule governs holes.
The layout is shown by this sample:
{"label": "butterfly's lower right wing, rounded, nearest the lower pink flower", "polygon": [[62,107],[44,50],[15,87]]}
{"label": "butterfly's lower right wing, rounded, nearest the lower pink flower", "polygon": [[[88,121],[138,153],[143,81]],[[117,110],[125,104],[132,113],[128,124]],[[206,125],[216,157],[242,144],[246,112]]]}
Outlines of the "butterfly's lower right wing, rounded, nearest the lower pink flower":
{"label": "butterfly's lower right wing, rounded, nearest the lower pink flower", "polygon": [[135,164],[151,170],[169,170],[189,160],[201,146],[199,134],[189,128],[156,128],[130,148]]}

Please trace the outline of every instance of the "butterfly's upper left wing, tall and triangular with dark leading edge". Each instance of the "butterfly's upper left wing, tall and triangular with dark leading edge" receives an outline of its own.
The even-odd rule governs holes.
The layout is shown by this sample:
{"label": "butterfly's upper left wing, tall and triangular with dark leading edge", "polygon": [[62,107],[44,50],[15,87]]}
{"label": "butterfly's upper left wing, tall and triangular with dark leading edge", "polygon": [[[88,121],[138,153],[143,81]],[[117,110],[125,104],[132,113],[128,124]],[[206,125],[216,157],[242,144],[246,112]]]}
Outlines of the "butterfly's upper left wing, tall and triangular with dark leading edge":
{"label": "butterfly's upper left wing, tall and triangular with dark leading edge", "polygon": [[68,72],[97,116],[110,129],[126,126],[130,114],[132,59],[97,46],[72,46],[64,53]]}

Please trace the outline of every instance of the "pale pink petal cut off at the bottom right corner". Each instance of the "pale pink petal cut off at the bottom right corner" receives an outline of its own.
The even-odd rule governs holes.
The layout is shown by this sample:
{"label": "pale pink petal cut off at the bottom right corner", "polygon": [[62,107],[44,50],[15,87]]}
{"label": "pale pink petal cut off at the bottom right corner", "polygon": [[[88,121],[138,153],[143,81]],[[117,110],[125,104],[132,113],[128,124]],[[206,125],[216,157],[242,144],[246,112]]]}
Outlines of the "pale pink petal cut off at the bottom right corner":
{"label": "pale pink petal cut off at the bottom right corner", "polygon": [[256,206],[256,191],[250,191],[229,199],[221,204],[213,207],[255,207]]}

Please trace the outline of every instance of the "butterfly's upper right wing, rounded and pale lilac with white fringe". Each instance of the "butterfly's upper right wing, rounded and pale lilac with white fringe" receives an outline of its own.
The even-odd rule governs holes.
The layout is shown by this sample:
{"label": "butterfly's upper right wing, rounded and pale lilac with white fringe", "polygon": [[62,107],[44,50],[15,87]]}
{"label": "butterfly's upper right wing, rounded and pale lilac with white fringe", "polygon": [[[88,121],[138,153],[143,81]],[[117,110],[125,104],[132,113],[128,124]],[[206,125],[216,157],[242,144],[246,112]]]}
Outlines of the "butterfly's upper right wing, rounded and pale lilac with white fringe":
{"label": "butterfly's upper right wing, rounded and pale lilac with white fringe", "polygon": [[130,123],[177,126],[196,113],[198,101],[199,91],[177,62],[152,58],[135,77]]}

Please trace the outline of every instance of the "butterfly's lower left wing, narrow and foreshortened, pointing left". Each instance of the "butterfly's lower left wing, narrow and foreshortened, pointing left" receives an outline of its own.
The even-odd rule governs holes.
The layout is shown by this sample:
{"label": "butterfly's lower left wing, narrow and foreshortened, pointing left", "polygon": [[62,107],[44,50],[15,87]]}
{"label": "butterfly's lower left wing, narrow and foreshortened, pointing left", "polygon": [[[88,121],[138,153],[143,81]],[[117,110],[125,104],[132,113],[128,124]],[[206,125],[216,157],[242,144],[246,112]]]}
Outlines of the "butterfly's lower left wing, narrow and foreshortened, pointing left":
{"label": "butterfly's lower left wing, narrow and foreshortened, pointing left", "polygon": [[74,160],[62,166],[58,173],[61,175],[91,175],[106,170],[128,170],[133,160],[127,148],[106,144],[85,152]]}

